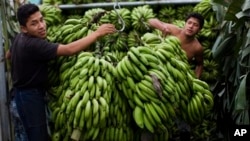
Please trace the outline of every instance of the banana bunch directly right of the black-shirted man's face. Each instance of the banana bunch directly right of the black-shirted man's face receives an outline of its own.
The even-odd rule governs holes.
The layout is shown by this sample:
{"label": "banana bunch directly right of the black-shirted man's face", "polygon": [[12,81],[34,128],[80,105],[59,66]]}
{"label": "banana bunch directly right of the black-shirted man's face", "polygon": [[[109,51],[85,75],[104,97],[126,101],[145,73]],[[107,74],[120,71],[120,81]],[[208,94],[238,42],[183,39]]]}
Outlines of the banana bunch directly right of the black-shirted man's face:
{"label": "banana bunch directly right of the black-shirted man's face", "polygon": [[61,9],[54,5],[42,4],[39,9],[44,17],[47,26],[57,25],[62,22]]}

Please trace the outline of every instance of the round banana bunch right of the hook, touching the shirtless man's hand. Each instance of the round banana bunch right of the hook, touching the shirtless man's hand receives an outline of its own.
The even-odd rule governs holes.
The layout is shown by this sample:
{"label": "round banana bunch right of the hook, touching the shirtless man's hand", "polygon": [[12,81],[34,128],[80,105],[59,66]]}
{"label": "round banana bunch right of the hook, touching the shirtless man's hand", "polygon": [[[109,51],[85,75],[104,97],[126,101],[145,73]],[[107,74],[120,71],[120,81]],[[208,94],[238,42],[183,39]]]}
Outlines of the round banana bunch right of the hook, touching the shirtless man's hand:
{"label": "round banana bunch right of the hook, touching the shirtless man's hand", "polygon": [[131,12],[132,27],[138,32],[148,32],[150,31],[150,26],[148,20],[155,18],[153,9],[149,5],[143,5],[133,8]]}

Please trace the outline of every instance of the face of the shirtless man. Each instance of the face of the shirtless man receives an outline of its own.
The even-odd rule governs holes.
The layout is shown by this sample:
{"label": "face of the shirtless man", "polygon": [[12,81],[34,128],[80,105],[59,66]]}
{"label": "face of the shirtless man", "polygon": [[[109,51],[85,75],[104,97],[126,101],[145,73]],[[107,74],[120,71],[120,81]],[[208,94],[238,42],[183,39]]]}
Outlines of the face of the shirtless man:
{"label": "face of the shirtless man", "polygon": [[185,34],[187,36],[195,36],[200,31],[199,20],[196,18],[189,18],[185,23]]}

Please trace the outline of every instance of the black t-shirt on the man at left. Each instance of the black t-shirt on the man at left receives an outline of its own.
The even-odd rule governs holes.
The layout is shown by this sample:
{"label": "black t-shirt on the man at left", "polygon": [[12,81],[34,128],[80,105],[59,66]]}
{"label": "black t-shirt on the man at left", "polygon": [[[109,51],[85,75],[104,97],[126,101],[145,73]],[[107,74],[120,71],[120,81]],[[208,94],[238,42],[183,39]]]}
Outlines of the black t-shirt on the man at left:
{"label": "black t-shirt on the man at left", "polygon": [[45,88],[48,62],[56,58],[58,44],[18,34],[10,48],[14,88]]}

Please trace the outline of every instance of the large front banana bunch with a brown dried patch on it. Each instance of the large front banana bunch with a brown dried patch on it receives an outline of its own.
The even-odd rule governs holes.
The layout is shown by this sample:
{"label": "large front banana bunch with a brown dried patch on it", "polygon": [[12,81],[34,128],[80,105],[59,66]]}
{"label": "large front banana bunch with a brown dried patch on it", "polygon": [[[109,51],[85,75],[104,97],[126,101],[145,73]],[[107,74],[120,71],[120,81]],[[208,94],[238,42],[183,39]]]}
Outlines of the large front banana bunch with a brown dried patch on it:
{"label": "large front banana bunch with a brown dried patch on it", "polygon": [[117,64],[115,73],[121,81],[119,84],[125,97],[134,109],[136,124],[152,133],[171,126],[180,100],[174,79],[161,67],[160,59],[154,52],[147,46],[130,48],[128,55]]}

